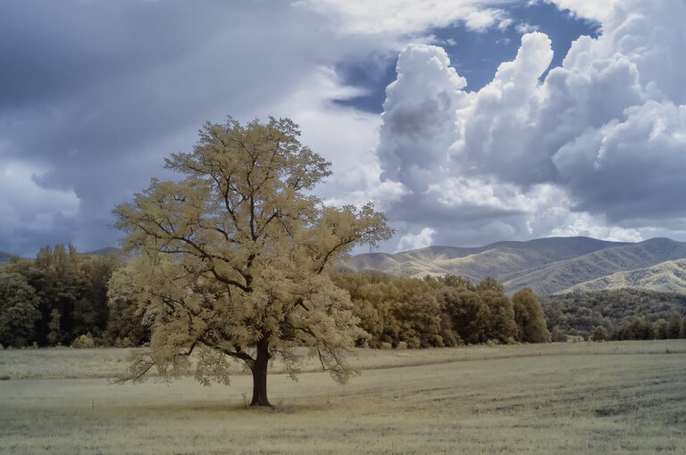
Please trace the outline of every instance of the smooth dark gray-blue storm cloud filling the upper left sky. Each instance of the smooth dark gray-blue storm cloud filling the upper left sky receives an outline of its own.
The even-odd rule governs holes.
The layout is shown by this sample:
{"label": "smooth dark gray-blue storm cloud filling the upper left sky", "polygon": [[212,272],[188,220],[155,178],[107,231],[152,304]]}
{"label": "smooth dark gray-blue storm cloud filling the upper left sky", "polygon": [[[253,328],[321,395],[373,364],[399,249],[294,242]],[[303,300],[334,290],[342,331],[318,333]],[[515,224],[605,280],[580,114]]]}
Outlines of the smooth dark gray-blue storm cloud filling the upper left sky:
{"label": "smooth dark gray-blue storm cloud filling the upper left sky", "polygon": [[[287,115],[274,106],[319,67],[371,48],[287,2],[0,8],[0,163],[23,176],[4,194],[14,221],[0,222],[0,251],[21,254],[44,243],[116,244],[113,206],[169,177],[163,157],[188,150],[205,120]],[[36,197],[20,207],[18,194]],[[39,203],[46,194],[50,210]],[[40,225],[25,224],[22,210],[42,213]]]}

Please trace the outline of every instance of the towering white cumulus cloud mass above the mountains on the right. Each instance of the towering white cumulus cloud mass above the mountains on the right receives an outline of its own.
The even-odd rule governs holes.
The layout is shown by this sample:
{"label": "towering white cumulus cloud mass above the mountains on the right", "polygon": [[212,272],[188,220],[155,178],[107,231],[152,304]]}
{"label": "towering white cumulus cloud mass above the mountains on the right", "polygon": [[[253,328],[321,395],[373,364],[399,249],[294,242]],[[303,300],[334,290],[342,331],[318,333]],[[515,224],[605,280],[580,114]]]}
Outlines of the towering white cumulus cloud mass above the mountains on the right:
{"label": "towering white cumulus cloud mass above the mountains on the right", "polygon": [[684,220],[686,3],[572,11],[602,20],[602,33],[574,41],[545,79],[553,51],[540,32],[525,34],[478,92],[464,90],[442,48],[401,52],[377,154],[382,180],[407,190],[389,204],[405,232],[431,227],[452,244],[498,234],[639,240]]}

